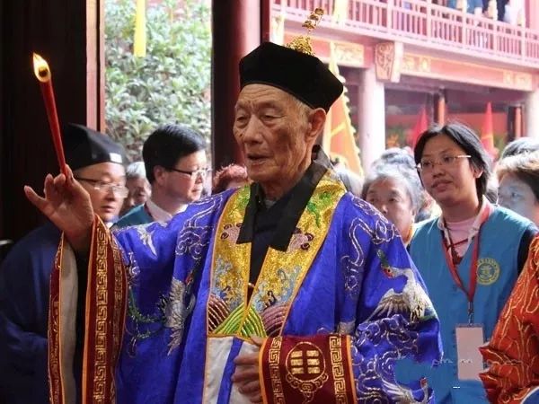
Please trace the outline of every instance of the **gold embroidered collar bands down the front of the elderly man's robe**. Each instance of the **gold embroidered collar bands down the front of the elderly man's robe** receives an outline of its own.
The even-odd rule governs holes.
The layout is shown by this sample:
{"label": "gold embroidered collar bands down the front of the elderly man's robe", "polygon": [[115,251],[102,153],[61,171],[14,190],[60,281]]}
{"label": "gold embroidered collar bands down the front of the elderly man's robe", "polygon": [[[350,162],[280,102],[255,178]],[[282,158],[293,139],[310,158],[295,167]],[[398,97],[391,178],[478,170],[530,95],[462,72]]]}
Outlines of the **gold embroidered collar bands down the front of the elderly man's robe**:
{"label": "gold embroidered collar bands down the front of the elderly man's robe", "polygon": [[326,172],[314,189],[287,251],[269,247],[249,302],[251,242],[236,241],[250,188],[239,189],[227,201],[213,250],[208,336],[249,338],[282,332],[291,303],[329,231],[335,206],[346,192],[333,176]]}

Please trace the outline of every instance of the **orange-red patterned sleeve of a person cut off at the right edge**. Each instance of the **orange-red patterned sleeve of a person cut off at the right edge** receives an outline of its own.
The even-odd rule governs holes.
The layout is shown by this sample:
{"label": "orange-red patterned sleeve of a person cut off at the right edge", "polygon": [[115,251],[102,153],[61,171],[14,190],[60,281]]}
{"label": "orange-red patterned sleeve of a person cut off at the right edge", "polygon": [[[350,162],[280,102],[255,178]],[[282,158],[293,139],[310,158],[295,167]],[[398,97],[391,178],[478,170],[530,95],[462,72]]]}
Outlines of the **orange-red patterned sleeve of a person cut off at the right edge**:
{"label": "orange-red patterned sleeve of a person cut off at the right edge", "polygon": [[490,402],[520,403],[539,386],[539,237],[481,351],[489,365],[481,378]]}

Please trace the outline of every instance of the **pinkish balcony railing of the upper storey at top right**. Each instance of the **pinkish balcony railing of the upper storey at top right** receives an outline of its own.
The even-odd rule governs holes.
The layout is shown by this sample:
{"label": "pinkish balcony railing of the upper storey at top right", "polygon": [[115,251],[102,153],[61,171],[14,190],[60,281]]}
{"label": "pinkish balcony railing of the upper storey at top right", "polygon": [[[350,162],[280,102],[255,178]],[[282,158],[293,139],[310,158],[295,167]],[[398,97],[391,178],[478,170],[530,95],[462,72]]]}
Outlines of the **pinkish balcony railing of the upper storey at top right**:
{"label": "pinkish balcony railing of the upper storey at top right", "polygon": [[321,25],[384,40],[539,67],[539,31],[464,13],[430,0],[349,0],[347,18],[331,17],[335,0],[272,0],[274,13],[303,22],[323,8]]}

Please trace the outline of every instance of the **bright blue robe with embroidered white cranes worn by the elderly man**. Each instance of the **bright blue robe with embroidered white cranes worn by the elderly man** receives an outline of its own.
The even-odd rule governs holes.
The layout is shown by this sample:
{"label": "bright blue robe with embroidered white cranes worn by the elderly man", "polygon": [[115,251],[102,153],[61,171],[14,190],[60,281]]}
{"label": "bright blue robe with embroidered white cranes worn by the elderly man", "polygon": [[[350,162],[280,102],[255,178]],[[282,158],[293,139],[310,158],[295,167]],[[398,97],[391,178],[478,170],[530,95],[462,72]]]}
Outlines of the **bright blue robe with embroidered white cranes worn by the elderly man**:
{"label": "bright blue robe with embroidered white cranes worn by the elderly man", "polygon": [[[221,223],[221,218],[229,199],[242,198],[242,192],[248,198],[248,190],[226,191],[194,203],[166,225],[116,233],[131,285],[117,377],[120,403],[244,402],[230,377],[234,357],[252,351],[252,345],[245,333],[219,332],[219,327],[210,326],[208,312],[232,300],[234,288],[247,288],[246,282],[234,284],[234,268],[214,254],[216,242],[227,238],[233,241],[234,254],[241,224]],[[358,402],[406,397],[432,402],[425,381],[401,386],[394,380],[398,358],[429,366],[440,359],[441,346],[436,312],[393,224],[347,193],[331,208],[327,225],[303,279],[291,281],[295,268],[278,271],[280,298],[287,303],[279,335],[349,334]],[[301,229],[298,232],[301,236]],[[301,242],[310,241],[307,237]],[[215,282],[219,270],[231,271],[228,284]],[[261,277],[263,273],[264,268]],[[274,287],[266,285],[268,290],[261,285],[254,299]]]}

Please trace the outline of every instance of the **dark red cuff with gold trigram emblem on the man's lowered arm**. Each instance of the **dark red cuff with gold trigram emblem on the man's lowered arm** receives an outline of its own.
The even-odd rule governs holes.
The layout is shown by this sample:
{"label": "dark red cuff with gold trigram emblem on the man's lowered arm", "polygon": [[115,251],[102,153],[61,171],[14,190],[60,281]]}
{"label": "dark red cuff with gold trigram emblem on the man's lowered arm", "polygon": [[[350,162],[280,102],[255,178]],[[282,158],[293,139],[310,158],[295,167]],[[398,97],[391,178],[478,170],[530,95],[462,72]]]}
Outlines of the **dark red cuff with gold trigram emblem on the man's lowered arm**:
{"label": "dark red cuff with gold trigram emblem on the man's lowered arm", "polygon": [[267,338],[260,359],[265,404],[357,402],[349,336]]}

